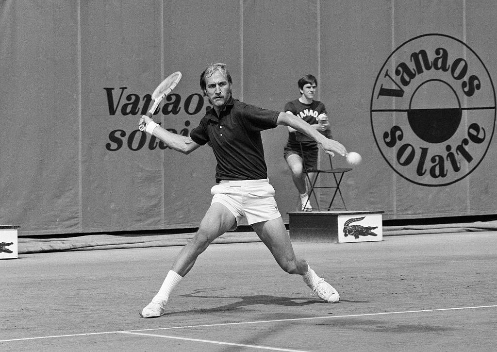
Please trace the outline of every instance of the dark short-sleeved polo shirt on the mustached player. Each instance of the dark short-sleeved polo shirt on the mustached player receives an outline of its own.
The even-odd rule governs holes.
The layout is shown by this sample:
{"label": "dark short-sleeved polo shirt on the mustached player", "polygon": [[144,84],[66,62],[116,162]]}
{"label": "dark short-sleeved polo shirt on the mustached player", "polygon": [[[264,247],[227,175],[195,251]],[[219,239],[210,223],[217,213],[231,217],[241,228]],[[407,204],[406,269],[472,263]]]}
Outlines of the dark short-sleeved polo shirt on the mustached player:
{"label": "dark short-sleeved polo shirt on the mustached player", "polygon": [[218,116],[211,108],[190,133],[197,144],[206,143],[217,160],[216,182],[267,178],[260,131],[276,127],[279,111],[262,109],[233,97]]}

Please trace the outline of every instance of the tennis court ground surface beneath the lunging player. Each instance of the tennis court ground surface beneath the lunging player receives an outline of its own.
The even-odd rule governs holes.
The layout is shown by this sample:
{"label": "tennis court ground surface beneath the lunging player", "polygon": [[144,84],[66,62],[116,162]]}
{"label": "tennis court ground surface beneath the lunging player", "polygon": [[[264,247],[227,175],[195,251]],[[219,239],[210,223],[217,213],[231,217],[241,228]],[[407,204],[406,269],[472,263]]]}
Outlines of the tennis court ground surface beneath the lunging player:
{"label": "tennis court ground surface beneath the lunging player", "polygon": [[294,243],[322,303],[260,242],[211,245],[165,316],[138,312],[181,247],[0,262],[0,351],[495,351],[497,232]]}

